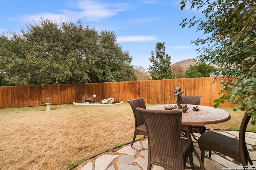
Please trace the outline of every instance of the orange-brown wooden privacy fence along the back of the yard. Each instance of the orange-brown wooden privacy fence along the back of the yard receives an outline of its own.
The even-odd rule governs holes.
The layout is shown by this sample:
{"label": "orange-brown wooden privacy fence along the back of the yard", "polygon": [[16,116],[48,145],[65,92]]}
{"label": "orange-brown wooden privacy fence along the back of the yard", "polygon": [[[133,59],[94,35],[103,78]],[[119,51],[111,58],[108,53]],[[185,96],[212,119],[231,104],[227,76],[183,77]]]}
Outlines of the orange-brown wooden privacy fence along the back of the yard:
{"label": "orange-brown wooden privacy fence along the back of the yard", "polygon": [[[81,102],[81,98],[92,98],[96,94],[96,101],[104,98],[114,98],[115,101],[124,101],[144,97],[150,104],[174,104],[176,87],[184,90],[182,96],[200,95],[200,104],[213,106],[214,100],[221,95],[223,88],[221,77],[215,82],[213,77],[180,78],[166,80],[146,80],[129,82],[106,82],[90,84],[55,84],[44,86],[4,86],[0,87],[0,109],[12,107],[42,106],[46,98],[50,97],[53,104],[72,104]],[[221,106],[233,107],[226,102]]]}

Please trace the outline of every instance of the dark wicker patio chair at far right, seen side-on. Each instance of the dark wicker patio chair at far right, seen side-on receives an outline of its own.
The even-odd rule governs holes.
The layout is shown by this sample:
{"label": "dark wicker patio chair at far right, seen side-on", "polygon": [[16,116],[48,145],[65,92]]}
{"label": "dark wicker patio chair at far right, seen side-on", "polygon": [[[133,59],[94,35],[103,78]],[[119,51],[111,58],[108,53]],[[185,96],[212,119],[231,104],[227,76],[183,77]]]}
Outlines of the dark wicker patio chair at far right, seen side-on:
{"label": "dark wicker patio chair at far right, seen side-on", "polygon": [[[213,131],[206,131],[206,133],[201,135],[201,137],[198,139],[198,145],[201,150],[202,162],[204,162],[205,151],[212,150],[229,156],[242,165],[247,165],[248,162],[253,165],[245,141],[246,127],[251,118],[251,116],[247,114],[247,110],[244,113],[244,117],[240,125],[239,139],[228,137]],[[209,154],[209,156],[211,155]]]}

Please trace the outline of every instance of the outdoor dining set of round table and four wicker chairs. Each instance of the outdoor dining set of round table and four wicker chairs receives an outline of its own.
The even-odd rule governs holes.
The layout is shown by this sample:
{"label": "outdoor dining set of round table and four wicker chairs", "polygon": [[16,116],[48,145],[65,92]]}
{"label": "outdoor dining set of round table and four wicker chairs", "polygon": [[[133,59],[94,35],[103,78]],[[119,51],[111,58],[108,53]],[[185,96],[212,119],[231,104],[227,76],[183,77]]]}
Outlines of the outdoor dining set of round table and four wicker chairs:
{"label": "outdoor dining set of round table and four wicker chairs", "polygon": [[[144,98],[128,100],[135,118],[131,146],[137,135],[148,137],[148,170],[152,165],[184,170],[187,160],[194,170],[193,154],[204,170],[205,151],[209,151],[209,156],[212,151],[219,152],[243,167],[254,167],[245,141],[246,127],[251,118],[247,110],[240,124],[238,139],[206,131],[205,125],[226,122],[230,120],[230,114],[219,108],[200,105],[200,96],[181,96],[183,91],[180,90],[177,88],[174,92],[176,104],[146,108]],[[195,137],[194,133],[199,133],[200,137]],[[198,142],[201,157],[194,148],[192,137]]]}

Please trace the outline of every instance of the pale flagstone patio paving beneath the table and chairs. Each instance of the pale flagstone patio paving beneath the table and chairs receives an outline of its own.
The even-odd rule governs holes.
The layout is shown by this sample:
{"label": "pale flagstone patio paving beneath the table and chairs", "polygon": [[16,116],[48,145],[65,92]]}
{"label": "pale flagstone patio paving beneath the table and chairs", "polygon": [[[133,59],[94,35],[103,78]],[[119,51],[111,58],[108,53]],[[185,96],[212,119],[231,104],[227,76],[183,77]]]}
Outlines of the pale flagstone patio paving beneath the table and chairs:
{"label": "pale flagstone patio paving beneath the table and chairs", "polygon": [[[219,132],[230,137],[238,137],[238,131],[226,131]],[[256,164],[256,133],[246,132],[246,143],[250,158],[254,165]],[[120,147],[114,152],[109,154],[105,152],[96,159],[87,160],[84,162],[81,170],[146,170],[148,159],[148,140],[142,139],[136,141],[132,147],[131,144]],[[198,143],[194,140],[194,147],[200,155],[200,149]],[[212,156],[209,157],[206,152],[206,158],[204,159],[204,166],[206,170],[227,170],[227,169],[241,169],[240,164],[237,164],[232,158],[228,156],[222,156],[219,153],[212,152]],[[200,169],[200,164],[193,154],[195,169]],[[191,169],[190,164],[187,161],[186,170]],[[250,167],[249,167],[250,168]],[[164,170],[160,166],[152,166],[152,170]]]}

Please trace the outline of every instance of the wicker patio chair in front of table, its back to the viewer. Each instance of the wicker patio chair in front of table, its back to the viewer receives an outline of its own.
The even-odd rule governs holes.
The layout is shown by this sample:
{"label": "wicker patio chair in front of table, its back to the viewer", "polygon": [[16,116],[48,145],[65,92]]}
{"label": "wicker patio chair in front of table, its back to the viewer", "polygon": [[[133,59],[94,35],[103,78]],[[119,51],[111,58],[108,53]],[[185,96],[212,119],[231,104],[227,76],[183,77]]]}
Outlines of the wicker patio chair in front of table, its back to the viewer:
{"label": "wicker patio chair in front of table, its back to the viewer", "polygon": [[181,137],[182,110],[137,110],[148,131],[148,170],[152,164],[168,170],[184,170],[188,157],[194,170],[192,140]]}

